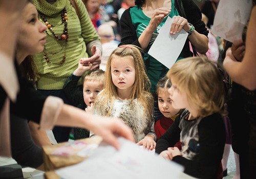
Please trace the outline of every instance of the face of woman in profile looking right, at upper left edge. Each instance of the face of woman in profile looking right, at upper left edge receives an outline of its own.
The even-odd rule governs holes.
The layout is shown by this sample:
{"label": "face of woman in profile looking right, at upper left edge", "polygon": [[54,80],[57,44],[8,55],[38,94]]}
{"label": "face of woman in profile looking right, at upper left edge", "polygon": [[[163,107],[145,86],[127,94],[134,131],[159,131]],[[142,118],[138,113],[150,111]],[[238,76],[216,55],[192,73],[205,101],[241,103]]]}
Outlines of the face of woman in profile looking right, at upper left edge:
{"label": "face of woman in profile looking right, at upper left edge", "polygon": [[28,56],[44,50],[46,29],[38,19],[35,6],[28,3],[20,16],[17,53]]}

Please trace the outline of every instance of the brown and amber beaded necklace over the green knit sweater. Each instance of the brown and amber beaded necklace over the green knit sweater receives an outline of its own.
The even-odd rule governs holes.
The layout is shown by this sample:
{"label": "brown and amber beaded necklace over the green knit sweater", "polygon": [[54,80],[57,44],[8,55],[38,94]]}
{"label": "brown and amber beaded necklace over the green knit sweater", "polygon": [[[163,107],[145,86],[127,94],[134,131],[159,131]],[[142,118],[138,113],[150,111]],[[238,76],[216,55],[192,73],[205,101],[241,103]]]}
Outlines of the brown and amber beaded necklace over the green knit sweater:
{"label": "brown and amber beaded necklace over the green knit sweater", "polygon": [[[42,20],[44,20],[45,22],[45,25],[47,26],[48,30],[53,34],[53,37],[56,39],[56,40],[65,40],[61,50],[63,49],[64,46],[66,46],[67,44],[67,41],[68,41],[68,38],[69,38],[69,34],[68,34],[68,14],[67,14],[67,10],[66,8],[64,8],[61,12],[61,24],[64,24],[64,29],[63,29],[63,32],[61,34],[61,36],[55,34],[54,30],[53,30],[53,27],[46,19],[46,15],[45,14],[42,14],[41,12],[38,12],[39,15],[41,16]],[[47,33],[47,32],[46,32]],[[47,33],[48,35],[50,35],[49,33]],[[60,51],[61,51],[60,50]],[[67,50],[67,49],[66,49]],[[66,60],[66,50],[65,50],[65,55],[63,56],[62,60],[60,61],[60,64],[64,63],[65,60]],[[52,53],[53,55],[54,54],[57,54],[58,52],[56,53]],[[47,57],[47,54],[46,54],[46,49],[44,49],[44,58],[47,62],[50,63],[50,60],[49,58]]]}

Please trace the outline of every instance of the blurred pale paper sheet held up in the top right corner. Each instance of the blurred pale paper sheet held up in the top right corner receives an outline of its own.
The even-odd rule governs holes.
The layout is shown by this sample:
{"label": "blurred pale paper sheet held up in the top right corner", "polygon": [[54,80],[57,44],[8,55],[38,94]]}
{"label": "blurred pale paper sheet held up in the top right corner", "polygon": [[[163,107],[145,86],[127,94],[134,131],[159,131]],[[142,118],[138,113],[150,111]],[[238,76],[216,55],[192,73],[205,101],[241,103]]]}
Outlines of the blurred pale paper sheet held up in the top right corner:
{"label": "blurred pale paper sheet held up in the top right corner", "polygon": [[242,39],[251,7],[251,0],[221,0],[215,14],[212,33],[231,42]]}

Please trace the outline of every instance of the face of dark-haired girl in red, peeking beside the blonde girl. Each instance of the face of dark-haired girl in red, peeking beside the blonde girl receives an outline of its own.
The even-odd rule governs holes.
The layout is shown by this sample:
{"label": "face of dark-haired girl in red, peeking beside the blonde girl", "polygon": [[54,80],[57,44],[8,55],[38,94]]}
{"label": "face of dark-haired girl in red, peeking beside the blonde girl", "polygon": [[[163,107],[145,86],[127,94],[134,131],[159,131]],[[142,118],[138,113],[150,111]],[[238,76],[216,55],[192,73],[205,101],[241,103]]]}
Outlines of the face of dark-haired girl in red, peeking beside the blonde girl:
{"label": "face of dark-haired girl in red, peeking beside the blonde girl", "polygon": [[173,107],[167,89],[162,87],[158,89],[158,107],[166,118],[170,118],[179,113],[179,109]]}

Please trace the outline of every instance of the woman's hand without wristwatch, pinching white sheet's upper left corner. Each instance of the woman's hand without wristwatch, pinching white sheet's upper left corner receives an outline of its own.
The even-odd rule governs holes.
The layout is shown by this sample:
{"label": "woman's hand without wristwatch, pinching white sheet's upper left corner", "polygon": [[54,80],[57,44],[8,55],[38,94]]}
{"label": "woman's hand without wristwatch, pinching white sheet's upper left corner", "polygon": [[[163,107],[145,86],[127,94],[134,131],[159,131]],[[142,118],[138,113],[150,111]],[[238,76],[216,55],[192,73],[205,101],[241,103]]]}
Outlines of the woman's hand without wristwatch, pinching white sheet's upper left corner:
{"label": "woman's hand without wristwatch, pinching white sheet's upper left corner", "polygon": [[150,24],[148,24],[147,29],[152,33],[157,29],[163,20],[163,18],[170,13],[169,8],[159,8],[154,11],[151,16]]}

